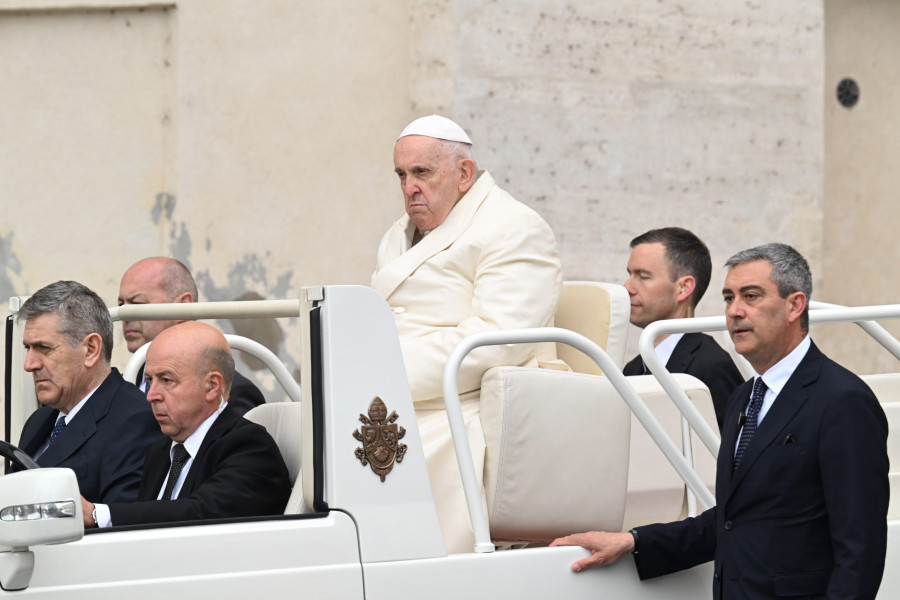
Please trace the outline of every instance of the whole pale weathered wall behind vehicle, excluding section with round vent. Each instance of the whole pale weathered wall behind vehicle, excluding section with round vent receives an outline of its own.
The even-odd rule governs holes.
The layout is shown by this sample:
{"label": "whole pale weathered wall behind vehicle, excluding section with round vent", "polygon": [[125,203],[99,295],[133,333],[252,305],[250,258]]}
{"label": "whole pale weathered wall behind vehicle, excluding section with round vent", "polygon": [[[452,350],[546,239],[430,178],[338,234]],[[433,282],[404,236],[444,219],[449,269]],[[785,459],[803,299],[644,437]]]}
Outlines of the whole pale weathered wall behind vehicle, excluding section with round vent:
{"label": "whole pale weathered wall behind vehicle, excluding section with round vent", "polygon": [[[823,19],[814,0],[3,0],[0,296],[72,278],[112,303],[152,254],[210,300],[365,284],[402,210],[394,139],[433,111],[545,216],[567,278],[622,281],[628,241],[673,224],[716,264],[779,240],[820,273]],[[291,366],[295,330],[254,326]]]}

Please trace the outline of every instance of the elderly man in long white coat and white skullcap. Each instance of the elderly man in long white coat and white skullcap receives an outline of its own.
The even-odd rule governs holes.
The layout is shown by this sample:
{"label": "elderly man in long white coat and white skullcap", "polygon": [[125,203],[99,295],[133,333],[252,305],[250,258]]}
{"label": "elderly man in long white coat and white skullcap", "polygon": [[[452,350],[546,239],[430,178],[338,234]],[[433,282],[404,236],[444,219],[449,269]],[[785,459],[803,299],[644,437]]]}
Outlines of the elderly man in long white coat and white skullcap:
{"label": "elderly man in long white coat and white skullcap", "polygon": [[[471,145],[459,125],[438,115],[403,130],[394,147],[394,170],[406,215],[384,235],[372,276],[372,287],[397,320],[451,553],[471,552],[474,536],[444,410],[444,363],[472,333],[551,325],[562,285],[550,227],[497,187],[490,173],[477,169]],[[459,391],[479,485],[485,448],[478,399],[482,375],[495,366],[538,366],[555,358],[552,344],[490,346],[463,362]]]}

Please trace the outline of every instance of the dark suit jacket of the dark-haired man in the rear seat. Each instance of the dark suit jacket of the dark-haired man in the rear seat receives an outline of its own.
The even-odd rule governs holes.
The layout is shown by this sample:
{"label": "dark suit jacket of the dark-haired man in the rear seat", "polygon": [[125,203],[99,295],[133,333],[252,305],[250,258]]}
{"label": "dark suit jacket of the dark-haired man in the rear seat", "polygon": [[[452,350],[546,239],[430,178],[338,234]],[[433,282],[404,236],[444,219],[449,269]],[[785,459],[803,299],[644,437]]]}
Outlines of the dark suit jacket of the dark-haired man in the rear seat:
{"label": "dark suit jacket of the dark-haired man in the rear seat", "polygon": [[[704,333],[686,333],[672,351],[666,370],[687,373],[706,384],[713,399],[719,431],[725,419],[728,398],[744,378],[734,361],[714,339]],[[637,355],[622,370],[625,375],[643,375],[644,361]]]}

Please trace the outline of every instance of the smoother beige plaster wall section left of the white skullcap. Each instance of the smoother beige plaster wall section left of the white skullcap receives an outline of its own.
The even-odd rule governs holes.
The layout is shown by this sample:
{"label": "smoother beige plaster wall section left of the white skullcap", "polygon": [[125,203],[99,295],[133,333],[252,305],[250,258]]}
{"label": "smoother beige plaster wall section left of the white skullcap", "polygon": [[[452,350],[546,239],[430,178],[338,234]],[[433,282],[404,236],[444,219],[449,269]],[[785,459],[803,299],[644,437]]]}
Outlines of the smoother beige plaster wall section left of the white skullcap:
{"label": "smoother beige plaster wall section left of the white skullcap", "polygon": [[[367,283],[401,210],[391,151],[411,115],[408,13],[0,2],[0,297],[64,278],[115,304],[124,270],[152,255],[184,261],[207,300]],[[296,366],[292,323],[242,327]]]}

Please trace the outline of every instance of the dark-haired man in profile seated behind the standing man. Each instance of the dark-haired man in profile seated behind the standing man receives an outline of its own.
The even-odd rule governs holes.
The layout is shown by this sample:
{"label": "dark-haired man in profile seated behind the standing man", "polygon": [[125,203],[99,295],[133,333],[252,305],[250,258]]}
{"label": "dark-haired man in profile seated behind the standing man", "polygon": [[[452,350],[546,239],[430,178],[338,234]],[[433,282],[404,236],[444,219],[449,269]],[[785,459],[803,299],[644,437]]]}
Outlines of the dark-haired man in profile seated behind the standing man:
{"label": "dark-haired man in profile seated behind the standing man", "polygon": [[[687,229],[653,229],[634,238],[625,281],[631,324],[643,328],[662,319],[693,317],[711,274],[709,249]],[[685,333],[657,338],[656,354],[670,373],[687,373],[706,384],[721,431],[728,397],[744,381],[728,353],[704,333]],[[640,355],[623,372],[648,373]]]}

